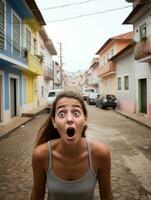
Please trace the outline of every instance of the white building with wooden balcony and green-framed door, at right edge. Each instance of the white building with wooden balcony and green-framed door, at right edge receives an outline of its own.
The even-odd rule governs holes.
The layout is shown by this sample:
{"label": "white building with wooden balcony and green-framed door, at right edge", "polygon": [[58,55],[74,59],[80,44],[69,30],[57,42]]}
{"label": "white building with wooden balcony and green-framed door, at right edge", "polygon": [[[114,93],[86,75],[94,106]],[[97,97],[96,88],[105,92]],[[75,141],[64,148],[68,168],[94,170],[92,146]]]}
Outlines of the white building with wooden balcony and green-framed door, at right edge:
{"label": "white building with wooden balcony and green-framed door, at right edge", "polygon": [[132,24],[136,83],[136,112],[151,119],[151,1],[127,0],[133,10],[123,24]]}

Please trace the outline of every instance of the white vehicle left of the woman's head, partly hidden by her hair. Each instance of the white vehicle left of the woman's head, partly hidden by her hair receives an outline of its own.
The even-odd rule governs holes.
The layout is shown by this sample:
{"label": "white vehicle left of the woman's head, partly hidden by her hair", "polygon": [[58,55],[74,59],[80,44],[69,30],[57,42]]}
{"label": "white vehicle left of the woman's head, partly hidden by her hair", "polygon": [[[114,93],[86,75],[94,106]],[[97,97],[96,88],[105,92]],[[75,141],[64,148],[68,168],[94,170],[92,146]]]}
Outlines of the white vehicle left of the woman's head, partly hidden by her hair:
{"label": "white vehicle left of the woman's head, partly hidden by her hair", "polygon": [[48,92],[48,97],[47,97],[47,109],[48,109],[48,112],[51,111],[53,101],[55,100],[57,94],[59,94],[60,92],[63,92],[63,89],[55,89],[55,90],[50,90]]}

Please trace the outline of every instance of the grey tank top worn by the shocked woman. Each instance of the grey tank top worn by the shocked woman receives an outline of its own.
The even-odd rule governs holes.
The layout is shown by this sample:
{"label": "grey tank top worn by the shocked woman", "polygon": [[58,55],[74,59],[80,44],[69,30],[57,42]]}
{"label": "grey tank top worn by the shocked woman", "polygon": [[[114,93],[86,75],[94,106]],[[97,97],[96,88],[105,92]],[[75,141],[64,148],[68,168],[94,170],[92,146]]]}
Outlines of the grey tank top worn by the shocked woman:
{"label": "grey tank top worn by the shocked woman", "polygon": [[53,172],[51,142],[48,141],[49,167],[46,180],[48,200],[95,200],[94,190],[97,176],[92,166],[90,141],[87,139],[86,141],[89,169],[83,177],[73,181],[62,180]]}

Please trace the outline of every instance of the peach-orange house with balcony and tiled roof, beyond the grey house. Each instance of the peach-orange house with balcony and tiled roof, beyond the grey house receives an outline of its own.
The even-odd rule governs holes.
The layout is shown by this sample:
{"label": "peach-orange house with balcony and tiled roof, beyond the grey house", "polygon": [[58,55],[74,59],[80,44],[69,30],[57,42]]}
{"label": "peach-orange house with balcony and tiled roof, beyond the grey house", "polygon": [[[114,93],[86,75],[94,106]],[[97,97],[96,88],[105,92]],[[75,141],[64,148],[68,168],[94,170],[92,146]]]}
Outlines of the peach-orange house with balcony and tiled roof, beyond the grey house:
{"label": "peach-orange house with balcony and tiled roof, beyond the grey house", "polygon": [[132,32],[109,38],[96,52],[99,55],[99,93],[116,95],[116,68],[109,59],[119,53],[132,41]]}

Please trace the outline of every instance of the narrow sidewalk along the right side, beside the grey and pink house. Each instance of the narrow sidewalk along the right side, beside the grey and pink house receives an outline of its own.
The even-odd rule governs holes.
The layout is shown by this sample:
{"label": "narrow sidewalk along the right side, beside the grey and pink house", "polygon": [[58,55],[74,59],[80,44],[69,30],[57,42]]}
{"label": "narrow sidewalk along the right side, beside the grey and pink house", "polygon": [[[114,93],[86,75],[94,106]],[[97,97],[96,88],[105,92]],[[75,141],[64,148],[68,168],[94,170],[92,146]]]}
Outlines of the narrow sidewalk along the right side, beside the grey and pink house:
{"label": "narrow sidewalk along the right side, beside the grey and pink house", "polygon": [[149,120],[144,114],[142,113],[130,113],[122,110],[115,110],[116,113],[121,114],[135,122],[138,122],[148,128],[151,128],[151,120]]}

